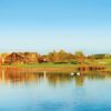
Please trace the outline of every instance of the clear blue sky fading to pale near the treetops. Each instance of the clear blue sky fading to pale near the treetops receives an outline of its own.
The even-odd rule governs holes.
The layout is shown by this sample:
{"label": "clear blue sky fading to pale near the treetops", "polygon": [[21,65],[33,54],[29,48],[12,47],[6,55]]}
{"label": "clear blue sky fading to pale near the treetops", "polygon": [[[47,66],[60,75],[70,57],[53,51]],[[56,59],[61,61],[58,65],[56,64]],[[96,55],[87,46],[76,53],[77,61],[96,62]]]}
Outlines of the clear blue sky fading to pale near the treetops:
{"label": "clear blue sky fading to pale near the treetops", "polygon": [[0,0],[0,51],[111,52],[111,0]]}

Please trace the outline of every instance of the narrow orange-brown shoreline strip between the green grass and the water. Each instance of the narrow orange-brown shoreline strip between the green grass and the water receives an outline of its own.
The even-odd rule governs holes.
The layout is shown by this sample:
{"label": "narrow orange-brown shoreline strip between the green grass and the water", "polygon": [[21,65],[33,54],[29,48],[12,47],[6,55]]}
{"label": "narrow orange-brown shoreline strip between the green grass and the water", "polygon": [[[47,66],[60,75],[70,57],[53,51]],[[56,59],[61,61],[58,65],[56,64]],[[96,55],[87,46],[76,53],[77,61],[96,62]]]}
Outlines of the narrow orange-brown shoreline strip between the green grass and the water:
{"label": "narrow orange-brown shoreline strip between the green grass and the water", "polygon": [[87,71],[79,71],[79,65],[73,67],[20,67],[20,65],[0,65],[0,70],[6,71],[18,71],[18,72],[101,72],[101,73],[111,73],[111,70],[87,70]]}

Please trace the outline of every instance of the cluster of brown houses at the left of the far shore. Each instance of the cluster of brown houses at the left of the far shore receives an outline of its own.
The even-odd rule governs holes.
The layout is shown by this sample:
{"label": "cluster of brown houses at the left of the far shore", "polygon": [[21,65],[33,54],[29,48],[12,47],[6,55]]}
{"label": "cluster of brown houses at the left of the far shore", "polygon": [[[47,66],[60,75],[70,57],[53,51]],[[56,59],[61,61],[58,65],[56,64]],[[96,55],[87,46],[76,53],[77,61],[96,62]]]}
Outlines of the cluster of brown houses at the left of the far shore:
{"label": "cluster of brown houses at the left of the far shore", "polygon": [[41,63],[47,62],[44,57],[36,52],[12,52],[3,57],[0,56],[0,64],[21,64],[21,63]]}

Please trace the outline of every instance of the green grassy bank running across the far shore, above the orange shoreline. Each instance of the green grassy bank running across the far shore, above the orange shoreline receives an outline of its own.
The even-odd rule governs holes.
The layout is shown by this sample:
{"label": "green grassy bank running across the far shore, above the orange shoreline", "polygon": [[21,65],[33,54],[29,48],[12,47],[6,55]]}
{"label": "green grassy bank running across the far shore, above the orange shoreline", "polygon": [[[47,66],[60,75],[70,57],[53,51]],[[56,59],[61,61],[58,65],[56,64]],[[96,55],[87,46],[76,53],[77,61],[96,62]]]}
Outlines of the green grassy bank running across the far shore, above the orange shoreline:
{"label": "green grassy bank running across the far shore, above the orange shoreline", "polygon": [[[87,63],[84,65],[94,65],[94,64],[101,64],[105,65],[107,70],[111,71],[111,59],[99,59],[93,62],[85,60]],[[34,64],[9,64],[9,65],[1,65],[1,68],[21,68],[21,69],[40,69],[40,70],[75,70],[80,64],[74,63],[34,63]]]}

